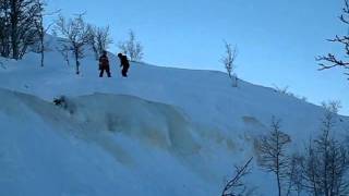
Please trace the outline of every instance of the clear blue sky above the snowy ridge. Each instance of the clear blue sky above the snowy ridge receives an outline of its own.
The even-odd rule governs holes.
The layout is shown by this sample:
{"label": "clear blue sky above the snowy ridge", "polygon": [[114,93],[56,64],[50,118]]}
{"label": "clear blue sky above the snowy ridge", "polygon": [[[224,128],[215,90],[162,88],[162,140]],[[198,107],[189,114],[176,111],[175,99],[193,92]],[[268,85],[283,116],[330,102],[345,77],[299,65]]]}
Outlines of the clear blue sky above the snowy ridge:
{"label": "clear blue sky above the snowy ridge", "polygon": [[49,11],[61,9],[67,17],[85,12],[88,23],[109,25],[116,42],[112,52],[133,29],[144,46],[144,61],[151,64],[225,71],[220,59],[226,40],[238,48],[240,78],[288,86],[316,105],[340,100],[340,113],[349,115],[344,70],[320,72],[315,61],[328,52],[342,57],[342,48],[326,39],[348,33],[338,20],[344,0],[46,1]]}

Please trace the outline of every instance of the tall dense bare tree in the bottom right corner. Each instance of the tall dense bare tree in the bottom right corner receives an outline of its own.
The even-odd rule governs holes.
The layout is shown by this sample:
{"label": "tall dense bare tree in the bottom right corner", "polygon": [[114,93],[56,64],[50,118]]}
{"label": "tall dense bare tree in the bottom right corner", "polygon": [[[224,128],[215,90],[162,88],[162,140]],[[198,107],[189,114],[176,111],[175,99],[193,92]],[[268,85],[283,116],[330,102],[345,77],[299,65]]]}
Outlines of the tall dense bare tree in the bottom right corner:
{"label": "tall dense bare tree in the bottom right corner", "polygon": [[348,148],[332,136],[338,112],[338,102],[324,105],[322,134],[311,140],[304,156],[304,187],[315,196],[341,196],[349,194]]}

